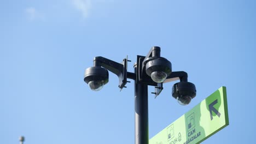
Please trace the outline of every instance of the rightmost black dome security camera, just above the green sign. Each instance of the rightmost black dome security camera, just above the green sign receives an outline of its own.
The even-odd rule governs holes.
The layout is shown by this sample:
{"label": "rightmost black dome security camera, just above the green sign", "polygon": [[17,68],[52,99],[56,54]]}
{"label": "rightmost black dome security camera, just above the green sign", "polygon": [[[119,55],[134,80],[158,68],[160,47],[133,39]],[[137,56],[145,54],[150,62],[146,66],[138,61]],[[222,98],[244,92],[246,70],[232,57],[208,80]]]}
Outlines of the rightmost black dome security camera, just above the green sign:
{"label": "rightmost black dome security camera, just above the green sign", "polygon": [[195,96],[196,88],[191,82],[181,81],[175,83],[172,87],[172,97],[177,99],[181,105],[188,105]]}

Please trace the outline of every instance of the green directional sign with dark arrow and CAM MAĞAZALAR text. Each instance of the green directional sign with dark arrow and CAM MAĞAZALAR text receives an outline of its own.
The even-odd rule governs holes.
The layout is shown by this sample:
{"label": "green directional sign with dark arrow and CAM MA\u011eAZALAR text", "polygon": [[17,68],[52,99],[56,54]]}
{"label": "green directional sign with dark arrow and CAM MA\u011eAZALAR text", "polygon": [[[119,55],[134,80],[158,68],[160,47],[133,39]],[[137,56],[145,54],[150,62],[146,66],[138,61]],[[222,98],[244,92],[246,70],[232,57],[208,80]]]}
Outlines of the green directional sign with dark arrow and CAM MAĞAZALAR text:
{"label": "green directional sign with dark arrow and CAM MA\u011eAZALAR text", "polygon": [[226,87],[204,99],[149,140],[150,144],[200,143],[229,125]]}

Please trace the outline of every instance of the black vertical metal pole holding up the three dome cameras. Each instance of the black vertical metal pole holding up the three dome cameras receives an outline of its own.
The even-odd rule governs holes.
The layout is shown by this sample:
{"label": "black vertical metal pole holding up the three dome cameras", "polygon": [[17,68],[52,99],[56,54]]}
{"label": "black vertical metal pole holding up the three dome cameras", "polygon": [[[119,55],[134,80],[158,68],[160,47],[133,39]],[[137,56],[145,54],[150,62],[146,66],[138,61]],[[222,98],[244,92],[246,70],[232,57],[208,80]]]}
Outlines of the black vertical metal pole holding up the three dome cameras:
{"label": "black vertical metal pole holding up the three dome cameras", "polygon": [[[135,65],[135,74],[137,65]],[[135,80],[135,144],[148,144],[148,86]]]}

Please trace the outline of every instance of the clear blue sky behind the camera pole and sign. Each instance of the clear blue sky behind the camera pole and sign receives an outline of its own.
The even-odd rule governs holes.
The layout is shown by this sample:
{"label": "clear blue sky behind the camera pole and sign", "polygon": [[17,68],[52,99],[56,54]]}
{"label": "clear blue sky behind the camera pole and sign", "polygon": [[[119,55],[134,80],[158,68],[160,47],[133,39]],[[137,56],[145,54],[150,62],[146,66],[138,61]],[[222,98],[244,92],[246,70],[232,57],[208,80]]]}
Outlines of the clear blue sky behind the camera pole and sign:
{"label": "clear blue sky behind the camera pole and sign", "polygon": [[203,143],[254,143],[256,1],[1,1],[0,141],[134,143],[133,81],[99,92],[83,81],[95,56],[133,71],[137,55],[160,46],[173,71],[197,88],[188,106],[149,87],[149,137],[221,86],[230,125]]}

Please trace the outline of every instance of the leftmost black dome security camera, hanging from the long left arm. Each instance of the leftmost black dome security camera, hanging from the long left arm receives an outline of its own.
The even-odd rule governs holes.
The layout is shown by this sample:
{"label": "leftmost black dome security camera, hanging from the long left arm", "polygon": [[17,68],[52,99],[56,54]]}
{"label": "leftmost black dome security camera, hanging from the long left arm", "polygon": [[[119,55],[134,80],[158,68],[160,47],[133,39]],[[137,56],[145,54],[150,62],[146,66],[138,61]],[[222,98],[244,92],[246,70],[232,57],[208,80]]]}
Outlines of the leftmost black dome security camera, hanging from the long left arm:
{"label": "leftmost black dome security camera, hanging from the long left arm", "polygon": [[90,67],[85,70],[84,81],[92,91],[100,91],[108,83],[108,70],[102,67]]}

